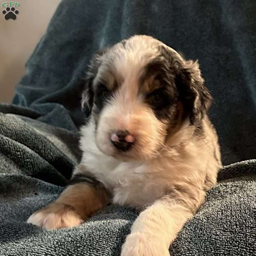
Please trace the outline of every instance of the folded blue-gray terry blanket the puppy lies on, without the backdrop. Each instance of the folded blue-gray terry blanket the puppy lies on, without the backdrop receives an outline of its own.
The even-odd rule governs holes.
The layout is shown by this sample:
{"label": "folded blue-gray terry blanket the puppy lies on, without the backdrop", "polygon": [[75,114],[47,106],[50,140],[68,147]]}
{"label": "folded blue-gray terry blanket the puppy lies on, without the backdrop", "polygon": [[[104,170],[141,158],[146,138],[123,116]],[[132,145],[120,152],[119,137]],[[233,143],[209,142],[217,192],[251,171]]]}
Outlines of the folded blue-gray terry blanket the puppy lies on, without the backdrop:
{"label": "folded blue-gray terry blanket the puppy lies on, without the backdrop", "polygon": [[[0,107],[1,109],[1,107]],[[137,217],[111,205],[79,227],[26,223],[55,200],[79,161],[79,134],[0,113],[0,256],[118,256]],[[255,255],[256,160],[224,167],[198,213],[170,247],[174,256]]]}

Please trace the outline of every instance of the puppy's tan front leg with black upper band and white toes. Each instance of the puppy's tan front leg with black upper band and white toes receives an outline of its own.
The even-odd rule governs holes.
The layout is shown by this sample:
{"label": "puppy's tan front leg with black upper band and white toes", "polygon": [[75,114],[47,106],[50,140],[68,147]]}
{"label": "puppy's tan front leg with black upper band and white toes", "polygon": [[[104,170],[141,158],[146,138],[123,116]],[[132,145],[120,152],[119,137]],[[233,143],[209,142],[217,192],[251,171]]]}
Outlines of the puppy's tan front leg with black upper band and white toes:
{"label": "puppy's tan front leg with black upper band and white toes", "polygon": [[105,188],[90,175],[76,174],[69,184],[55,202],[34,212],[27,223],[47,230],[77,226],[110,201]]}

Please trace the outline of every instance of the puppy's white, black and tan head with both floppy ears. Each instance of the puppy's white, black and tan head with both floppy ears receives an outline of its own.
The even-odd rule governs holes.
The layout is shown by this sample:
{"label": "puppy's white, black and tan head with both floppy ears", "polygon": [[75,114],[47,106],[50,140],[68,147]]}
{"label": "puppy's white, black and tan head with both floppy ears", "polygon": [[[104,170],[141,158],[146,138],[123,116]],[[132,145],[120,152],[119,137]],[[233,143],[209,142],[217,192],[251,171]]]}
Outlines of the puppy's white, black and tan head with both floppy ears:
{"label": "puppy's white, black and tan head with both floppy ears", "polygon": [[185,120],[198,126],[210,100],[197,61],[137,35],[94,56],[82,104],[103,153],[142,160],[156,157]]}

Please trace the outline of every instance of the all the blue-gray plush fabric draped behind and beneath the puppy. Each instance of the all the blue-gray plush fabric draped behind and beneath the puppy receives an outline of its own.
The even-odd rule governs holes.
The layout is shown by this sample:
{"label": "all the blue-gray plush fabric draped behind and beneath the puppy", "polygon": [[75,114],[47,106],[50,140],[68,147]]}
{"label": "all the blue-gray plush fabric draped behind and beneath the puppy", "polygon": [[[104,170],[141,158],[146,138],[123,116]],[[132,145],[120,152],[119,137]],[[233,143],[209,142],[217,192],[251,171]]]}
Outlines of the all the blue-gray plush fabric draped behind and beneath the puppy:
{"label": "all the blue-gray plush fabric draped behind and beneath the puppy", "polygon": [[172,255],[256,251],[256,2],[63,0],[27,62],[12,105],[0,105],[0,256],[119,255],[137,212],[109,206],[83,225],[26,224],[79,163],[82,78],[99,48],[152,35],[198,59],[214,102],[224,164],[218,184],[170,247]]}

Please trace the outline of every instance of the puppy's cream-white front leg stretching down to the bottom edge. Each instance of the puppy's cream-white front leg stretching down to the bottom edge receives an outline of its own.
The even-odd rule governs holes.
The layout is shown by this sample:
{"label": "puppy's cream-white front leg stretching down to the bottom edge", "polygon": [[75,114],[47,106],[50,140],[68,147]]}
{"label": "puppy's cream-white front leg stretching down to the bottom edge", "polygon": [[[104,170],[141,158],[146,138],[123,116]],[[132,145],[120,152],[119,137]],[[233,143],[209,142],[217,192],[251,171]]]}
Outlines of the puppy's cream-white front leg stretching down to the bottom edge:
{"label": "puppy's cream-white front leg stretching down to the bottom edge", "polygon": [[169,256],[171,242],[192,215],[186,206],[172,198],[156,201],[134,221],[121,256]]}

